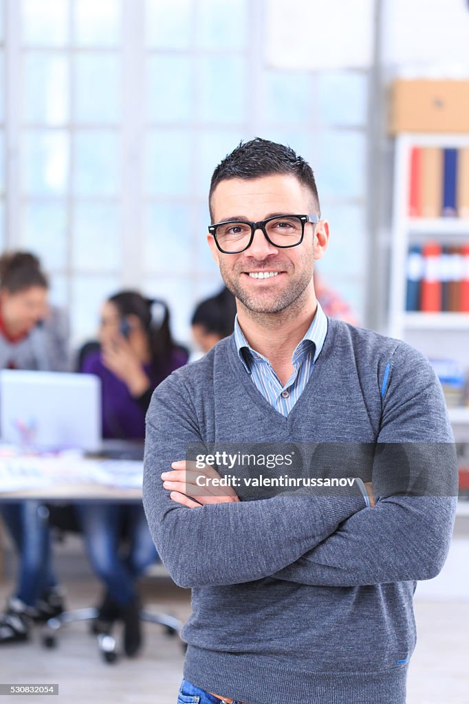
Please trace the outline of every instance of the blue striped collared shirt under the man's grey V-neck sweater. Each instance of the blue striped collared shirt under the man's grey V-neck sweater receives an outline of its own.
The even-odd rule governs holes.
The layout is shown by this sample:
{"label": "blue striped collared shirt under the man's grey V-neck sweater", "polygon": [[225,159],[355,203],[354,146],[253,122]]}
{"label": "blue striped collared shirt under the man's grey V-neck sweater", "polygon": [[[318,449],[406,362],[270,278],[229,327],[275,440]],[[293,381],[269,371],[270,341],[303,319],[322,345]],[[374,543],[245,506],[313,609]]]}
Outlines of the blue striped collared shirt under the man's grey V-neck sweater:
{"label": "blue striped collared shirt under the man's grey V-neck sweater", "polygon": [[323,348],[327,333],[327,317],[318,303],[313,322],[292,354],[292,376],[282,386],[269,360],[249,345],[235,318],[235,344],[244,369],[251,375],[258,391],[282,415],[287,416],[304,391],[313,364]]}

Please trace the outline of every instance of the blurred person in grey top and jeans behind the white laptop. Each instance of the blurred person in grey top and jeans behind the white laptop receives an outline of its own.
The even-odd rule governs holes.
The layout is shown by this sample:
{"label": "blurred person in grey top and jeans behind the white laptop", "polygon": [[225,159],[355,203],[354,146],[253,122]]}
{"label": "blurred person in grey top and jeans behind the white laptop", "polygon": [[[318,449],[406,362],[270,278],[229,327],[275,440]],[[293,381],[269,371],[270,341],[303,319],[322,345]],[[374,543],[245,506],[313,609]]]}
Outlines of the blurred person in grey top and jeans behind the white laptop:
{"label": "blurred person in grey top and jeans behind the white laptop", "polygon": [[[48,303],[49,282],[31,253],[0,257],[0,367],[68,369],[68,324]],[[47,508],[37,501],[0,504],[0,515],[19,556],[18,582],[0,615],[0,643],[27,640],[32,620],[63,610],[51,567]]]}

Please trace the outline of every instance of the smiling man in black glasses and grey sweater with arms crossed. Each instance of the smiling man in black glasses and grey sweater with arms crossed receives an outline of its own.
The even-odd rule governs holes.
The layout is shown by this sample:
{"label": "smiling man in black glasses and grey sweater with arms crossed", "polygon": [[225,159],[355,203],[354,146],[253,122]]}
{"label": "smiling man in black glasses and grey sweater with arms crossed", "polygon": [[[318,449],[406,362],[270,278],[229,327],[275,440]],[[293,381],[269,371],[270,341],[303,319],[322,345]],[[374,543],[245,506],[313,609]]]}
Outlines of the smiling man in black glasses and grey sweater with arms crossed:
{"label": "smiling man in black glasses and grey sweater with arms crossed", "polygon": [[[453,480],[441,387],[407,344],[323,313],[313,268],[329,225],[292,149],[240,144],[215,169],[209,203],[235,329],[158,386],[146,418],[146,515],[171,577],[192,588],[178,702],[404,704],[415,581],[441,570],[456,500],[386,491],[394,463],[375,474],[376,448],[431,443],[420,472],[437,464]],[[373,485],[248,496],[201,489],[185,461],[192,444],[261,442],[334,446],[352,477],[354,449],[372,446]],[[202,473],[226,476],[213,463]]]}

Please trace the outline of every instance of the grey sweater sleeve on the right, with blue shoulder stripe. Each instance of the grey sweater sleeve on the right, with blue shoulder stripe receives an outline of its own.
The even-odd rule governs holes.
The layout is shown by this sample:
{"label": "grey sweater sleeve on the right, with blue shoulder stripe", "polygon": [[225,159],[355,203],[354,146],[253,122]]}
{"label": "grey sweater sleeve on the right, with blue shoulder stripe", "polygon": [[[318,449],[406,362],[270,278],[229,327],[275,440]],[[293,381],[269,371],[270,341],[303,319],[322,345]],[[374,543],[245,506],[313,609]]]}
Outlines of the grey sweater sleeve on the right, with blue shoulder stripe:
{"label": "grey sweater sleeve on the right, with blue shoulder stripe", "polygon": [[[420,490],[413,495],[383,493],[375,508],[349,517],[273,577],[357,586],[432,579],[442,570],[456,513],[456,452],[439,381],[428,360],[404,344],[392,358],[377,441],[399,444],[412,458],[410,471],[420,472]],[[375,477],[374,467],[377,495],[382,476]]]}

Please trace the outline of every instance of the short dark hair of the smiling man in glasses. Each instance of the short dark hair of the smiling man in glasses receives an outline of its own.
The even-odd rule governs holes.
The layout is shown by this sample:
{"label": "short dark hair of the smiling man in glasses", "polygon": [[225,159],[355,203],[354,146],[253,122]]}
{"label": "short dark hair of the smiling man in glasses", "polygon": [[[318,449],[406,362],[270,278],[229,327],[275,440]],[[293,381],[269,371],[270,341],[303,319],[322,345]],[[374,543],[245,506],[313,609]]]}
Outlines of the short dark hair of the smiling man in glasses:
{"label": "short dark hair of the smiling man in glasses", "polygon": [[213,172],[208,194],[208,207],[213,221],[211,201],[213,191],[220,181],[230,178],[254,179],[262,176],[284,174],[296,178],[310,189],[313,194],[314,206],[320,215],[318,189],[314,179],[313,169],[301,156],[297,156],[290,146],[270,142],[268,139],[251,139],[250,142],[239,142],[236,149],[220,161]]}

